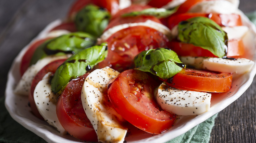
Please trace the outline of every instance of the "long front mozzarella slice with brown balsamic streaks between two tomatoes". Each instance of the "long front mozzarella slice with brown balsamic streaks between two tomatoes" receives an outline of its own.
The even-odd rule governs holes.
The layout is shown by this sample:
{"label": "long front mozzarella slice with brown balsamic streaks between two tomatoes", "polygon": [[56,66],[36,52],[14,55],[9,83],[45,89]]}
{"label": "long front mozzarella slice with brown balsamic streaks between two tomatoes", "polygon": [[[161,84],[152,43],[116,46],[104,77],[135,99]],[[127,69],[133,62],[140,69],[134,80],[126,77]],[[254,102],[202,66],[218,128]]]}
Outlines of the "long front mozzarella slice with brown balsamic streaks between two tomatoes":
{"label": "long front mozzarella slice with brown balsamic streaks between two tomatoes", "polygon": [[100,142],[123,143],[127,129],[120,124],[123,120],[113,108],[107,95],[107,85],[119,74],[109,67],[91,72],[85,79],[81,100],[84,111],[91,121]]}

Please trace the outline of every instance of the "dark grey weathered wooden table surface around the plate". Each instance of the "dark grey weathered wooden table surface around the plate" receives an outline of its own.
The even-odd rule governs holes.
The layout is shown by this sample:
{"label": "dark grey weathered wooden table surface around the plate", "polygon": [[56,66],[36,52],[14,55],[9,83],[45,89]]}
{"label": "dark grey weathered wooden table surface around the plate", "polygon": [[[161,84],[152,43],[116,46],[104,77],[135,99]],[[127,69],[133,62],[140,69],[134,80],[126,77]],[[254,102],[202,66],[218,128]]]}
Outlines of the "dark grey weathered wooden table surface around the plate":
{"label": "dark grey weathered wooden table surface around the plate", "polygon": [[[64,18],[74,0],[0,1],[0,97],[13,59],[47,24]],[[242,11],[256,10],[256,0],[241,0]],[[221,111],[210,142],[256,142],[256,78],[245,93]]]}

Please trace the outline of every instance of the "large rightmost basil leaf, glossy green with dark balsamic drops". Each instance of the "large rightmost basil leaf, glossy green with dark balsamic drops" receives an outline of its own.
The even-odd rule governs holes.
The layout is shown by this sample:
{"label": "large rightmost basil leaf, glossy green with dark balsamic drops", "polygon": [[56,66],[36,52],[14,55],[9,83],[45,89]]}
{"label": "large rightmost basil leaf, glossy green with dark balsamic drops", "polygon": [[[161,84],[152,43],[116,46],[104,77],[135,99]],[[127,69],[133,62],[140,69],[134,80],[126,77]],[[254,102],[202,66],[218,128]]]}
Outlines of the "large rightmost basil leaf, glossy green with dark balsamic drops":
{"label": "large rightmost basil leaf, glossy green with dark balsamic drops", "polygon": [[206,17],[190,18],[178,25],[179,39],[182,42],[209,50],[218,57],[227,52],[227,33],[214,21]]}

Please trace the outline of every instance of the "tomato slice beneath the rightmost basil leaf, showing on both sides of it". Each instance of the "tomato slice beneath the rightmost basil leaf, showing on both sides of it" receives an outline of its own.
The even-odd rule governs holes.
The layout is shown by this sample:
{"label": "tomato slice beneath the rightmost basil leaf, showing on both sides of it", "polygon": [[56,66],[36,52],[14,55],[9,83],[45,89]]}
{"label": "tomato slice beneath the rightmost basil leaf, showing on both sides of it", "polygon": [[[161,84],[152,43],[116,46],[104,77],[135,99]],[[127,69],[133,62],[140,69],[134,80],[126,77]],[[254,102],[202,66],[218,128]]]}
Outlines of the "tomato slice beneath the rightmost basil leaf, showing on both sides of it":
{"label": "tomato slice beneath the rightmost basil leaf, showing on both sides of it", "polygon": [[[175,51],[179,56],[211,56],[213,55],[210,51],[205,50],[201,47],[194,46],[190,43],[184,43],[173,40],[170,42],[170,49]],[[228,40],[227,57],[243,56],[245,54],[245,46],[243,40]]]}

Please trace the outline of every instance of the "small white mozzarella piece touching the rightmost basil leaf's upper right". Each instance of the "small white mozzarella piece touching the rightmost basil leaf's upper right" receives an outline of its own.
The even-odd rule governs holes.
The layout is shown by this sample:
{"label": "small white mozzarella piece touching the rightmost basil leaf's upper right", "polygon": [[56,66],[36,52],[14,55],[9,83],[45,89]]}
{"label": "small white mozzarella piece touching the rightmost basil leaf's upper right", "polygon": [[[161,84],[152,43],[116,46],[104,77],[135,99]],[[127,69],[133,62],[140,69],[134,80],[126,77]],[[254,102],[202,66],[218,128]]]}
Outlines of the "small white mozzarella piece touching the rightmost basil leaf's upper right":
{"label": "small white mozzarella piece touching the rightmost basil leaf's upper right", "polygon": [[243,39],[249,28],[247,26],[222,27],[228,39]]}

